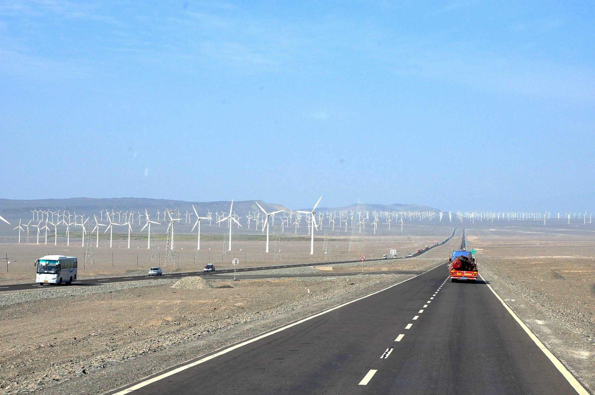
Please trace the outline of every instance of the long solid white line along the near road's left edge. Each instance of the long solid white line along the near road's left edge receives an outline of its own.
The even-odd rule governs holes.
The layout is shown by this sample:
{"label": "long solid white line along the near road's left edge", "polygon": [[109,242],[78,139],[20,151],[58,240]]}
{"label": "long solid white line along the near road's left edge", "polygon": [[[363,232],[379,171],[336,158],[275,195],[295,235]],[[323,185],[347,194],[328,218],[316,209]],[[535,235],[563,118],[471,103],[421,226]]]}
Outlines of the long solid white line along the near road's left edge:
{"label": "long solid white line along the near road's left edge", "polygon": [[[444,263],[446,263],[446,262],[444,262]],[[431,270],[434,270],[434,269],[436,269],[437,267],[440,267],[441,265],[444,265],[444,264],[436,265],[436,267],[433,267],[433,268],[431,268],[430,270],[423,272],[422,274],[425,274],[425,273],[427,273],[427,272],[429,272],[429,271],[431,271]],[[181,372],[181,371],[184,371],[184,370],[186,370],[186,369],[192,368],[193,366],[200,365],[200,364],[201,364],[201,363],[203,363],[203,362],[206,362],[206,361],[208,361],[208,360],[211,360],[211,359],[213,359],[213,358],[217,358],[217,357],[218,357],[218,356],[220,356],[220,355],[224,355],[224,354],[227,354],[227,353],[228,353],[228,352],[230,352],[230,351],[233,351],[233,350],[235,350],[235,349],[239,349],[240,347],[246,346],[246,344],[254,343],[255,341],[261,340],[261,338],[265,338],[265,337],[271,336],[271,335],[273,335],[273,334],[275,334],[275,333],[279,333],[279,332],[281,332],[281,331],[284,331],[284,330],[286,330],[286,329],[289,329],[289,328],[295,327],[296,325],[302,324],[302,322],[309,321],[309,320],[310,320],[310,319],[312,319],[312,318],[316,318],[316,317],[318,317],[318,316],[321,316],[321,315],[323,315],[323,314],[327,314],[328,312],[334,311],[334,310],[336,310],[336,309],[340,309],[340,308],[342,308],[343,306],[350,305],[351,303],[358,302],[359,300],[366,299],[367,297],[370,297],[370,296],[372,296],[372,295],[375,295],[375,294],[377,294],[377,293],[381,293],[381,292],[383,292],[383,291],[386,291],[387,289],[391,289],[392,287],[396,287],[396,286],[398,286],[399,284],[403,284],[403,283],[405,283],[406,281],[413,280],[414,278],[416,278],[416,277],[419,277],[419,276],[420,276],[420,275],[422,275],[422,274],[414,275],[414,277],[410,277],[410,278],[408,278],[408,279],[406,279],[406,280],[400,281],[399,283],[393,284],[392,286],[388,286],[388,287],[386,287],[386,288],[383,288],[383,289],[381,289],[381,290],[378,290],[378,291],[375,291],[375,292],[369,293],[369,294],[367,294],[367,295],[364,295],[364,296],[362,296],[362,297],[358,297],[358,299],[349,300],[349,302],[345,302],[345,303],[343,303],[342,305],[339,305],[339,306],[334,306],[333,308],[330,308],[330,309],[328,309],[328,310],[325,310],[325,311],[322,311],[322,312],[320,312],[320,313],[318,313],[318,314],[314,314],[314,315],[311,315],[311,316],[309,316],[309,317],[306,317],[306,318],[300,319],[299,321],[293,322],[292,324],[285,325],[284,327],[281,327],[281,328],[275,329],[275,330],[273,330],[273,331],[270,331],[270,332],[267,332],[267,333],[261,334],[260,336],[256,336],[256,337],[253,337],[253,338],[251,338],[251,339],[249,339],[249,340],[242,341],[242,343],[236,344],[235,346],[227,347],[227,349],[223,349],[223,350],[221,350],[220,352],[217,352],[217,353],[211,354],[211,355],[209,355],[209,356],[205,356],[205,358],[201,358],[201,359],[199,359],[199,360],[195,360],[195,362],[186,363],[186,365],[182,365],[182,366],[180,366],[179,368],[172,369],[172,370],[170,370],[170,371],[167,371],[167,372],[165,372],[164,374],[160,374],[160,375],[158,375],[158,376],[155,376],[155,377],[152,377],[152,378],[148,378],[148,379],[147,379],[147,380],[145,380],[145,381],[141,381],[141,382],[140,382],[140,383],[138,383],[138,384],[131,385],[130,387],[128,387],[128,388],[125,388],[124,390],[118,391],[117,393],[114,393],[113,395],[126,395],[126,394],[129,394],[129,393],[131,393],[131,392],[132,392],[132,391],[134,391],[134,390],[138,390],[139,388],[145,387],[146,385],[149,385],[149,384],[151,384],[151,383],[155,383],[155,381],[159,381],[159,380],[162,380],[162,379],[164,379],[164,378],[166,378],[166,377],[170,377],[171,375],[174,375],[174,374],[176,374],[176,373],[179,373],[179,372]],[[407,325],[407,327],[406,327],[405,329],[409,329],[409,328],[411,328],[411,324]],[[372,372],[372,371],[370,371],[370,372]],[[376,372],[376,371],[374,371],[374,373],[375,373],[375,372]],[[372,373],[372,376],[374,375],[374,373]],[[368,374],[369,374],[369,372],[368,372]],[[370,377],[370,378],[371,378],[371,377]],[[365,378],[364,378],[364,379],[365,379]],[[362,380],[362,381],[364,381],[364,380]],[[368,380],[368,381],[369,381],[369,380]],[[362,384],[362,385],[365,385],[365,384]]]}

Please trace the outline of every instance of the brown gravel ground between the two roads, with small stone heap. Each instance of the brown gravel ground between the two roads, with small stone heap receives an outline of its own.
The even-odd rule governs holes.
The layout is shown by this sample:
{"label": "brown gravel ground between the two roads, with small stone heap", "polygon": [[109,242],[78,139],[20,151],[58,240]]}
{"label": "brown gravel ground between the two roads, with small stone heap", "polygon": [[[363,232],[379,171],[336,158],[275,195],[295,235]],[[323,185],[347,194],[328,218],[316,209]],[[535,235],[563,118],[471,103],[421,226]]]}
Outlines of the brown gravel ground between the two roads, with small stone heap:
{"label": "brown gravel ground between the two roads, with small stone heap", "polygon": [[5,293],[0,394],[101,394],[409,277],[187,277]]}

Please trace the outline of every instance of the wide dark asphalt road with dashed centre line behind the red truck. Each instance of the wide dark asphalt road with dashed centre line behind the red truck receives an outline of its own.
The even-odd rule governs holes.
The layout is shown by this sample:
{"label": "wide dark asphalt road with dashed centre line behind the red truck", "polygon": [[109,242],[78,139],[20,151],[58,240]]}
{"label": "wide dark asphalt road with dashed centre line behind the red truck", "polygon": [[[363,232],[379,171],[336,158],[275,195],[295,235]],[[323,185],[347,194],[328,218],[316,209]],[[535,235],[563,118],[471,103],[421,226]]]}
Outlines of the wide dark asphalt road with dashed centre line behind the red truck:
{"label": "wide dark asphalt road with dashed centre line behind the red truck", "polygon": [[112,394],[577,393],[486,283],[447,280],[439,265]]}

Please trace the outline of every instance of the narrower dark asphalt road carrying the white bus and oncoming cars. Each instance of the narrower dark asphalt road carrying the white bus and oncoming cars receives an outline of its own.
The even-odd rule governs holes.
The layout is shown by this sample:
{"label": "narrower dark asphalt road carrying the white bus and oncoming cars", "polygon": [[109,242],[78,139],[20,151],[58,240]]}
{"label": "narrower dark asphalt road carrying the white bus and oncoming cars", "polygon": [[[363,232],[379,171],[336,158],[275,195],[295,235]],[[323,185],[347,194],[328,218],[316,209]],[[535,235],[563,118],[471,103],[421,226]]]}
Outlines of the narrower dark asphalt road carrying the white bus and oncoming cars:
{"label": "narrower dark asphalt road carrying the white bus and oncoming cars", "polygon": [[[444,244],[444,243],[448,242],[450,239],[452,239],[452,237],[455,236],[455,232],[457,229],[458,228],[453,229],[450,237],[448,237],[446,240],[444,240],[444,242],[439,243],[438,246],[441,246],[442,244]],[[437,247],[437,246],[428,247],[427,250],[422,250],[419,253],[416,252],[416,253],[412,254],[412,256],[422,255],[423,253],[425,253],[435,247]],[[396,259],[408,259],[408,257],[396,258]],[[367,259],[366,262],[381,261],[381,260],[382,259]],[[347,264],[347,263],[353,263],[353,262],[360,262],[360,261],[333,261],[333,262],[325,261],[325,262],[314,262],[314,263],[308,263],[308,264],[274,265],[274,266],[261,266],[261,267],[251,267],[251,268],[238,268],[237,273],[241,274],[244,272],[253,272],[253,271],[269,270],[269,269],[286,269],[286,268],[300,268],[300,267],[308,267],[308,266],[337,265],[337,264]],[[218,270],[215,273],[216,274],[233,273],[233,269]],[[121,282],[125,282],[125,281],[152,280],[155,278],[182,278],[182,277],[185,277],[188,275],[192,275],[192,276],[203,275],[206,277],[206,276],[214,275],[214,274],[211,272],[202,272],[202,271],[183,272],[183,273],[164,272],[162,277],[152,277],[152,276],[148,276],[148,275],[129,275],[129,276],[120,276],[120,277],[85,278],[84,280],[73,281],[73,284],[71,286],[95,286],[98,284],[121,283]],[[32,277],[33,277],[33,279],[35,279],[35,271],[32,271]],[[274,277],[274,276],[268,276],[268,277]],[[287,275],[285,275],[283,277],[287,277]],[[250,278],[255,278],[255,277],[250,277]],[[67,285],[60,284],[60,286],[65,287]],[[7,284],[5,286],[0,285],[0,292],[2,292],[2,291],[32,290],[32,289],[35,289],[35,290],[54,289],[54,287],[55,286],[52,286],[49,284],[41,286],[37,283]]]}

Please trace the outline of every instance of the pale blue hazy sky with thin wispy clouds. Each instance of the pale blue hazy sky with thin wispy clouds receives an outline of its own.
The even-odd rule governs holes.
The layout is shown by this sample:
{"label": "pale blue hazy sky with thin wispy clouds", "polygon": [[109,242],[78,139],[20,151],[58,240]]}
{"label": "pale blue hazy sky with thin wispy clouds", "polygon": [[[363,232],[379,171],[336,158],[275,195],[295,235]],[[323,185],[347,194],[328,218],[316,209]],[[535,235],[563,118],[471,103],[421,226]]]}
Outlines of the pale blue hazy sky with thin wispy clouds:
{"label": "pale blue hazy sky with thin wispy clouds", "polygon": [[151,3],[0,1],[0,197],[593,209],[592,2]]}

